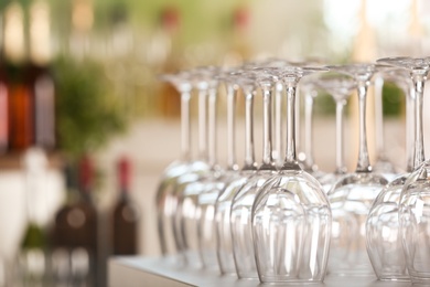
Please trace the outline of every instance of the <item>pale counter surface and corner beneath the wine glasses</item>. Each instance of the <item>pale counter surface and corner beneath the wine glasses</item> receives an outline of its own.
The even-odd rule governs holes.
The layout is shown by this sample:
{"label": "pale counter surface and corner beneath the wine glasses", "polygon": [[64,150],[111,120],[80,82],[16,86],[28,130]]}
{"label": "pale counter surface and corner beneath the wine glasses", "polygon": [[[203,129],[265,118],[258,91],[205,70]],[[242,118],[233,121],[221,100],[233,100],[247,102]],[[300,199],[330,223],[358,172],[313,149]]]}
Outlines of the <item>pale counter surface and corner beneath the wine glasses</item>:
{"label": "pale counter surface and corner beneath the wine glasses", "polygon": [[[108,263],[108,286],[204,286],[204,287],[256,287],[258,280],[237,279],[236,276],[221,276],[215,270],[191,269],[174,265],[172,258],[161,257],[112,257]],[[279,285],[278,285],[279,286]],[[292,285],[289,285],[292,286]],[[307,285],[308,286],[308,285]],[[323,284],[309,286],[324,287],[404,287],[410,283],[378,281],[372,277],[327,276]]]}

